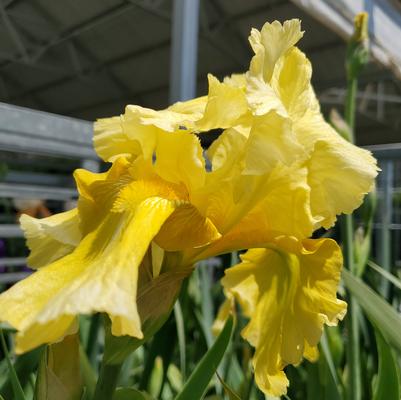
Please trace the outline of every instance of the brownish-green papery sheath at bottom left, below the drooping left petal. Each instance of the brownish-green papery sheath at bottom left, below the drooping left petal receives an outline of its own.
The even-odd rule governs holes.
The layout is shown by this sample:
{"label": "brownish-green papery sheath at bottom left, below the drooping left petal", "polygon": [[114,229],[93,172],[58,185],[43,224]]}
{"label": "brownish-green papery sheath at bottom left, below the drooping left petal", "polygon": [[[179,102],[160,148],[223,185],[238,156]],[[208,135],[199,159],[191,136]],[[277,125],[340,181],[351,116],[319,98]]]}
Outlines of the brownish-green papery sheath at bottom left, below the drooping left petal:
{"label": "brownish-green papery sheath at bottom left, below the drooping left petal", "polygon": [[70,335],[43,353],[34,399],[80,400],[81,396],[79,338]]}

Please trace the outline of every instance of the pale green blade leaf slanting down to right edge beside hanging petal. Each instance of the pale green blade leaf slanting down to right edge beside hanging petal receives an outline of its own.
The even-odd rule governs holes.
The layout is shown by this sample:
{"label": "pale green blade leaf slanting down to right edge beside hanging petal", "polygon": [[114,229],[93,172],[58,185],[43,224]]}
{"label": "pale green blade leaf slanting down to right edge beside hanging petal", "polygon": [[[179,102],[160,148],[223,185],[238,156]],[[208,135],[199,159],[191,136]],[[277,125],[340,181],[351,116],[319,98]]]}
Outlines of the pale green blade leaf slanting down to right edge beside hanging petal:
{"label": "pale green blade leaf slanting down to right edge beside hanging petal", "polygon": [[345,268],[343,269],[343,279],[348,290],[366,312],[371,322],[380,329],[392,346],[401,351],[400,314],[380,295]]}

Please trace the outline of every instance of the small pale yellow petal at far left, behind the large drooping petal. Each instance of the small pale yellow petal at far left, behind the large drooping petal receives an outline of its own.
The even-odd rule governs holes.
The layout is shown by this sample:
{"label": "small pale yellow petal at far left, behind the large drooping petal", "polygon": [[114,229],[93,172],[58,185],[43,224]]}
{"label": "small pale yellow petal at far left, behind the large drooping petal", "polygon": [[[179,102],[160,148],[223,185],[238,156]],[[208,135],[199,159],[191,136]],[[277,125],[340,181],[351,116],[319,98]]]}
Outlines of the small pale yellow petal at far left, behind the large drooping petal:
{"label": "small pale yellow petal at far left, behind the large drooping petal", "polygon": [[71,253],[81,240],[76,208],[42,219],[23,214],[20,222],[31,250],[27,260],[31,268],[42,267]]}

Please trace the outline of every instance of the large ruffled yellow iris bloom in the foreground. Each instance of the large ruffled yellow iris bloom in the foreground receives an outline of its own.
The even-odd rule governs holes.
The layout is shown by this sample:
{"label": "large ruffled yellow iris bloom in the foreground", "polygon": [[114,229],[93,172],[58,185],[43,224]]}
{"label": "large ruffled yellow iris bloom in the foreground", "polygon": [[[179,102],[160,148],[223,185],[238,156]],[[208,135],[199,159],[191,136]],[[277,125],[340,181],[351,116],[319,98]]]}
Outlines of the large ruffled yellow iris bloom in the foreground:
{"label": "large ruffled yellow iris bloom in the foreground", "polygon": [[[315,358],[323,325],[346,311],[338,245],[308,238],[358,207],[377,174],[370,153],[324,121],[295,47],[302,35],[299,20],[266,23],[251,32],[245,74],[209,75],[207,96],[161,111],[129,105],[96,123],[110,170],[75,172],[76,209],[21,218],[37,272],[0,296],[18,352],[60,340],[94,312],[108,314],[114,335],[142,338],[195,262],[249,249],[222,283],[249,318],[256,383],[286,391],[283,368]],[[199,135],[215,128],[206,170]]]}

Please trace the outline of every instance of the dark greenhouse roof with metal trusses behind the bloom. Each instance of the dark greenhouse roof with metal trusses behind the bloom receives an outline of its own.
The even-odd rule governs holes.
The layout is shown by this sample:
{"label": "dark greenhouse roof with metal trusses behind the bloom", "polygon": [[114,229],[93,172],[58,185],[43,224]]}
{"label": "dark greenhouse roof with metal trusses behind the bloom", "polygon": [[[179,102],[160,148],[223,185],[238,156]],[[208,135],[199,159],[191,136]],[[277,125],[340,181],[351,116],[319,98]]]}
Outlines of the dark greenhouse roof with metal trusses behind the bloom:
{"label": "dark greenhouse roof with metal trusses behind the bloom", "polygon": [[[251,27],[300,18],[300,47],[324,112],[341,111],[346,29],[316,11],[316,4],[341,1],[200,3],[198,94],[207,90],[208,72],[222,78],[247,69]],[[393,7],[400,13],[395,0]],[[127,103],[168,105],[171,0],[3,0],[0,12],[0,101],[87,120],[119,114]],[[360,80],[359,144],[400,141],[401,82],[396,68],[382,64],[372,61]]]}

